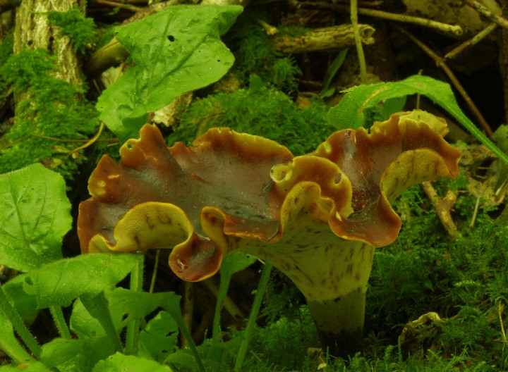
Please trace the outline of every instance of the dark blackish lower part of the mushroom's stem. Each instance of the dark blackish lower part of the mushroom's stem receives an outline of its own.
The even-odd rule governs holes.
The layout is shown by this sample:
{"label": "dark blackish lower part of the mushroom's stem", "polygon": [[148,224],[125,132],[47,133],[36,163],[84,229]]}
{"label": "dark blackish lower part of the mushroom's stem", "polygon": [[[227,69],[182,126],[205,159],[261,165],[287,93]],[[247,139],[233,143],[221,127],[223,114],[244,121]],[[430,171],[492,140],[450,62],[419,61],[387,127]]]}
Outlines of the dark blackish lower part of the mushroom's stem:
{"label": "dark blackish lower part of the mushroom's stem", "polygon": [[358,288],[334,300],[309,301],[308,306],[323,349],[328,349],[333,356],[344,358],[361,351],[365,289]]}

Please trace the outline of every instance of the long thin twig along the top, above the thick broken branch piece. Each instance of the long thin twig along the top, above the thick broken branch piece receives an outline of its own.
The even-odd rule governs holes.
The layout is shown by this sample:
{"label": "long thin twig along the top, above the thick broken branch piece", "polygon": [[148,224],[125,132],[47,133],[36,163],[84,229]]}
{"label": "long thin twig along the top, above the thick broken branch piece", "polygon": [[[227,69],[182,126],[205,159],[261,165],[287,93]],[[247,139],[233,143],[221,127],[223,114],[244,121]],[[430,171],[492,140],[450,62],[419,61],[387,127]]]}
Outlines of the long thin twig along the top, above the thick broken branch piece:
{"label": "long thin twig along the top, above the thick broken branch piece", "polygon": [[[325,2],[310,2],[303,1],[300,3],[301,6],[306,8],[332,8],[337,11],[349,12],[350,7],[346,5],[328,4]],[[358,14],[362,16],[369,16],[375,18],[382,18],[387,20],[397,20],[398,22],[413,23],[414,25],[420,25],[425,27],[435,28],[442,32],[451,32],[454,35],[462,35],[462,28],[459,25],[449,25],[447,23],[437,22],[435,20],[429,20],[426,18],[406,16],[405,14],[388,13],[385,11],[377,11],[375,9],[358,8]]]}

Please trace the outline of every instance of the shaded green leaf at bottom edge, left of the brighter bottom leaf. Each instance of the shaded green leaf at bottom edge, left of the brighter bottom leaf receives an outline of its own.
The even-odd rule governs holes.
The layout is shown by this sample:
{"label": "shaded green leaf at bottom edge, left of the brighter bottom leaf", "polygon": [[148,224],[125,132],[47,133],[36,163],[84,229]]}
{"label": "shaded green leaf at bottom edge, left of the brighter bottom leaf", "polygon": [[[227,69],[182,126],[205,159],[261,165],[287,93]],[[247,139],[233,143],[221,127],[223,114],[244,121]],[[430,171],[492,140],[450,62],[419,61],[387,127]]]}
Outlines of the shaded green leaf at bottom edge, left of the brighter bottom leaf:
{"label": "shaded green leaf at bottom edge, left of the brighter bottom leaf", "polygon": [[109,339],[66,340],[56,338],[42,346],[41,360],[46,366],[59,371],[92,371],[95,364],[114,354]]}

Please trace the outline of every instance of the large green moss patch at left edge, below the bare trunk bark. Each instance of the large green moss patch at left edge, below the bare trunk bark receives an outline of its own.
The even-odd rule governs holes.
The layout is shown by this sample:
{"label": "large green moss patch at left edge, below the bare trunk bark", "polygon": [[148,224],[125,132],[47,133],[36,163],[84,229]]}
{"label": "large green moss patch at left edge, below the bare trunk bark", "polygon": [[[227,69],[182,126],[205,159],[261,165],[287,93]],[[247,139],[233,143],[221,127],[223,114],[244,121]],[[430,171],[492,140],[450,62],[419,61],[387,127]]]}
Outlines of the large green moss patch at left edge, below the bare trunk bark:
{"label": "large green moss patch at left edge, below the bare trunk bark", "polygon": [[[69,152],[95,132],[95,108],[83,89],[54,77],[54,57],[42,49],[20,52],[0,68],[19,103],[10,130],[0,139],[0,173],[42,161],[71,178],[83,156]],[[44,138],[52,137],[52,139]],[[75,158],[75,159],[74,159]]]}

